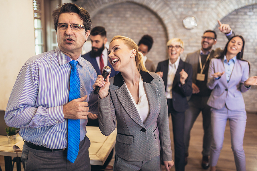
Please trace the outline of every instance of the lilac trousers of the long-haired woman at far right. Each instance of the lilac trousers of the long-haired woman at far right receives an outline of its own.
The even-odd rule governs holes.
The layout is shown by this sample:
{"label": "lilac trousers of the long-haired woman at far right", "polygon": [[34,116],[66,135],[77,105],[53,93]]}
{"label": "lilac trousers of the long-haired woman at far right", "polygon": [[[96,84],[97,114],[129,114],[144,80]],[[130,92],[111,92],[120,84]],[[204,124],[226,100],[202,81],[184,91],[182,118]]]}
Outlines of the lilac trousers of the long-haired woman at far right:
{"label": "lilac trousers of the long-haired woman at far right", "polygon": [[212,111],[212,145],[210,154],[210,166],[216,166],[223,146],[224,132],[227,120],[230,125],[231,148],[234,153],[237,171],[246,170],[246,160],[243,148],[244,131],[246,126],[246,111],[229,110],[226,105],[222,109]]}

